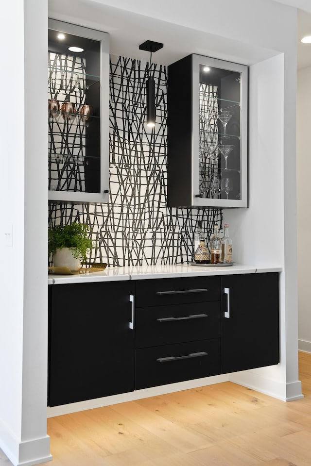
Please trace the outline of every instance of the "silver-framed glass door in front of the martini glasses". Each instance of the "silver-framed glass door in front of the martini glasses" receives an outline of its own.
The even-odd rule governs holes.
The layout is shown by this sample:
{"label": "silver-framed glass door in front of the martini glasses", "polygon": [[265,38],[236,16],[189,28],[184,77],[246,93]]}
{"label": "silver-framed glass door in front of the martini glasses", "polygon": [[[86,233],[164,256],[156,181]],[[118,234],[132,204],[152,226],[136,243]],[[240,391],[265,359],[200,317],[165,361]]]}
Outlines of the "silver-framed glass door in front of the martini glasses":
{"label": "silver-framed glass door in front of the martini glasses", "polygon": [[193,205],[247,207],[247,67],[193,55]]}

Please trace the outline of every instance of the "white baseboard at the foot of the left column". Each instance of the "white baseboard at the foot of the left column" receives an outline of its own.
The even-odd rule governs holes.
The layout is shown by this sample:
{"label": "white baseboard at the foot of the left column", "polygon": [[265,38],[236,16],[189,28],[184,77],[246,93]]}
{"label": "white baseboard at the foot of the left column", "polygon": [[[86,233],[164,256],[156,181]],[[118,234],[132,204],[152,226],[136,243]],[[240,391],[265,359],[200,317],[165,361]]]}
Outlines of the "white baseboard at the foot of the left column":
{"label": "white baseboard at the foot of the left column", "polygon": [[14,466],[32,466],[52,461],[49,435],[21,442],[1,419],[0,448]]}

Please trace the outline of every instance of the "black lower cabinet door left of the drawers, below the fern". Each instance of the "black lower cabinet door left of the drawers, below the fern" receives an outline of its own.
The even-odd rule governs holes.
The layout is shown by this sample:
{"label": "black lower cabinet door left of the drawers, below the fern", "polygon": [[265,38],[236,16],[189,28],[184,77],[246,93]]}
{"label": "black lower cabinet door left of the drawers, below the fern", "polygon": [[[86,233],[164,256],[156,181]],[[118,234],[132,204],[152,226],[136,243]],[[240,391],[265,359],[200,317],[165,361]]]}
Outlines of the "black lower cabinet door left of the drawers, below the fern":
{"label": "black lower cabinet door left of the drawers, below the fern", "polygon": [[134,390],[133,282],[49,286],[48,405]]}

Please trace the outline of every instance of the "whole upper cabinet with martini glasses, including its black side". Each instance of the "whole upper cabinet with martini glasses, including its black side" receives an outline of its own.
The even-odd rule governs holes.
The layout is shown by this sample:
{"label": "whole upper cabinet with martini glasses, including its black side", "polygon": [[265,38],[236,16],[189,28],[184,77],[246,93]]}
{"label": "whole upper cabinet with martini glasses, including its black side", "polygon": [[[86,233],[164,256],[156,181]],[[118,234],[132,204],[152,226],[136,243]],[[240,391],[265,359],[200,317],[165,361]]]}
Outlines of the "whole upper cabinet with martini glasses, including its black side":
{"label": "whole upper cabinet with martini glasses, including its black side", "polygon": [[170,207],[247,207],[247,71],[201,55],[169,66]]}

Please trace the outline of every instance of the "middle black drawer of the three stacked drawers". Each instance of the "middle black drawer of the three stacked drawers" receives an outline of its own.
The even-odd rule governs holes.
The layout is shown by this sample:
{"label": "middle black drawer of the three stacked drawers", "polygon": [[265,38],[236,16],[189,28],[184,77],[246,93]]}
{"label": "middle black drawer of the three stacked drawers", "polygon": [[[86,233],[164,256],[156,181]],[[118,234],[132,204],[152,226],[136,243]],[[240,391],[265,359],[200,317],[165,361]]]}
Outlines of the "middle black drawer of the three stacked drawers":
{"label": "middle black drawer of the three stacked drawers", "polygon": [[136,310],[136,348],[220,337],[219,301]]}

